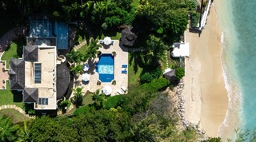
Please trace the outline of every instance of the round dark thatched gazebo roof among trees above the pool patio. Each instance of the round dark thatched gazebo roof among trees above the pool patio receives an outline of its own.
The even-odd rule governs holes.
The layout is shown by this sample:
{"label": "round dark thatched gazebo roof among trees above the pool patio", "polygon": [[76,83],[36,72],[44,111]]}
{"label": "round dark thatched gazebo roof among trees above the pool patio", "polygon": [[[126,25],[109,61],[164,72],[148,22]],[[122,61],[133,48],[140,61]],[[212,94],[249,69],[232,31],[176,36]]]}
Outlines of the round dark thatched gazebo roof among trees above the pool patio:
{"label": "round dark thatched gazebo roof among trees above the pool patio", "polygon": [[138,35],[132,31],[132,26],[126,26],[126,29],[122,30],[121,41],[124,45],[134,45]]}

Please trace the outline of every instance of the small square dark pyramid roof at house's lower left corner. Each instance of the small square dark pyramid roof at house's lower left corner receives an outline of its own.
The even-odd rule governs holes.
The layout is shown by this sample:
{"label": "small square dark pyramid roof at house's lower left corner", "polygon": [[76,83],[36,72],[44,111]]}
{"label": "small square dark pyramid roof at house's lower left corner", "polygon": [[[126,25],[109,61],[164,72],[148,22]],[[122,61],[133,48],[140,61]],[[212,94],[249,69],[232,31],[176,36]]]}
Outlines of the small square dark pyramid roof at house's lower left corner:
{"label": "small square dark pyramid roof at house's lower left corner", "polygon": [[38,102],[38,88],[25,88],[23,90],[23,102],[25,103]]}

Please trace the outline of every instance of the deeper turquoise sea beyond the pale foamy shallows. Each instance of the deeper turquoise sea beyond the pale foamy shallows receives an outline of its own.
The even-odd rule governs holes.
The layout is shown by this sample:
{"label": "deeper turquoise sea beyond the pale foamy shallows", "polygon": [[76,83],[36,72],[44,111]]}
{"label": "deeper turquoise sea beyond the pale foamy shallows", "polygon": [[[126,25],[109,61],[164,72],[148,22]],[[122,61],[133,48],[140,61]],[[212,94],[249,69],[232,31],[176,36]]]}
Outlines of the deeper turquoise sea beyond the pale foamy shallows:
{"label": "deeper turquoise sea beyond the pale foamy shallows", "polygon": [[234,53],[242,95],[243,129],[256,128],[256,1],[233,0],[234,26],[238,36]]}

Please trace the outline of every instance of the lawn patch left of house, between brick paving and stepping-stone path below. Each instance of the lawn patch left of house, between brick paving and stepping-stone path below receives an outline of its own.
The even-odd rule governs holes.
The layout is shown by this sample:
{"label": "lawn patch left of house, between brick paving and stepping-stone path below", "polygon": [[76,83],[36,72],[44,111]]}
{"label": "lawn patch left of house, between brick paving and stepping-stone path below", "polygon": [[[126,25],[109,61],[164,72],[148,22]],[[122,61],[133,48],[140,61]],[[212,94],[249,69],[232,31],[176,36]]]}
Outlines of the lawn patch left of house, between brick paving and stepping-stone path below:
{"label": "lawn patch left of house, between brick paving and stepping-stone path below", "polygon": [[0,90],[0,105],[17,105],[23,108],[22,92],[10,91],[10,82],[6,83],[6,89]]}

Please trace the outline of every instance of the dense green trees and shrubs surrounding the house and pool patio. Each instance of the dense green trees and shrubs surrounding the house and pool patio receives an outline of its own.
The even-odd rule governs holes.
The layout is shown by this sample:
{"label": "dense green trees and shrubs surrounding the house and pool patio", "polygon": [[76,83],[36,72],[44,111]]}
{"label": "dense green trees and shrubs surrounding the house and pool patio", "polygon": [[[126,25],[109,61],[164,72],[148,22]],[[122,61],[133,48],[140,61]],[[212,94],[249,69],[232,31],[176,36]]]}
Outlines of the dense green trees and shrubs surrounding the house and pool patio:
{"label": "dense green trees and shrubs surrounding the house and pool patio", "polygon": [[[132,25],[138,30],[138,43],[134,47],[145,50],[134,57],[142,61],[146,70],[139,83],[129,86],[123,96],[107,97],[98,90],[92,95],[94,104],[82,105],[82,89],[74,89],[72,102],[78,109],[74,116],[50,118],[37,117],[24,124],[12,124],[10,118],[0,117],[2,141],[196,141],[193,128],[179,128],[174,102],[165,93],[170,85],[162,77],[162,62],[174,41],[179,41],[186,30],[189,14],[193,13],[195,0],[2,0],[2,13],[21,14],[20,23],[26,24],[30,14],[45,13],[52,19],[77,22],[78,29],[88,26],[94,38],[104,31],[118,32],[118,28]],[[134,2],[136,3],[136,2]],[[82,29],[81,29],[82,26]],[[79,32],[78,32],[79,33]],[[91,35],[90,35],[91,36]],[[78,41],[81,39],[78,38]],[[133,47],[131,47],[133,48]],[[84,52],[84,53],[83,53]],[[79,62],[90,60],[98,53],[97,40],[91,40],[84,51],[71,50],[67,54],[78,74]],[[83,56],[81,56],[83,54]],[[84,56],[86,55],[86,56]],[[136,60],[135,60],[136,59]],[[139,60],[137,60],[139,59]],[[134,68],[135,69],[135,68]],[[184,69],[178,69],[178,79]],[[59,104],[60,107],[70,102]]]}

